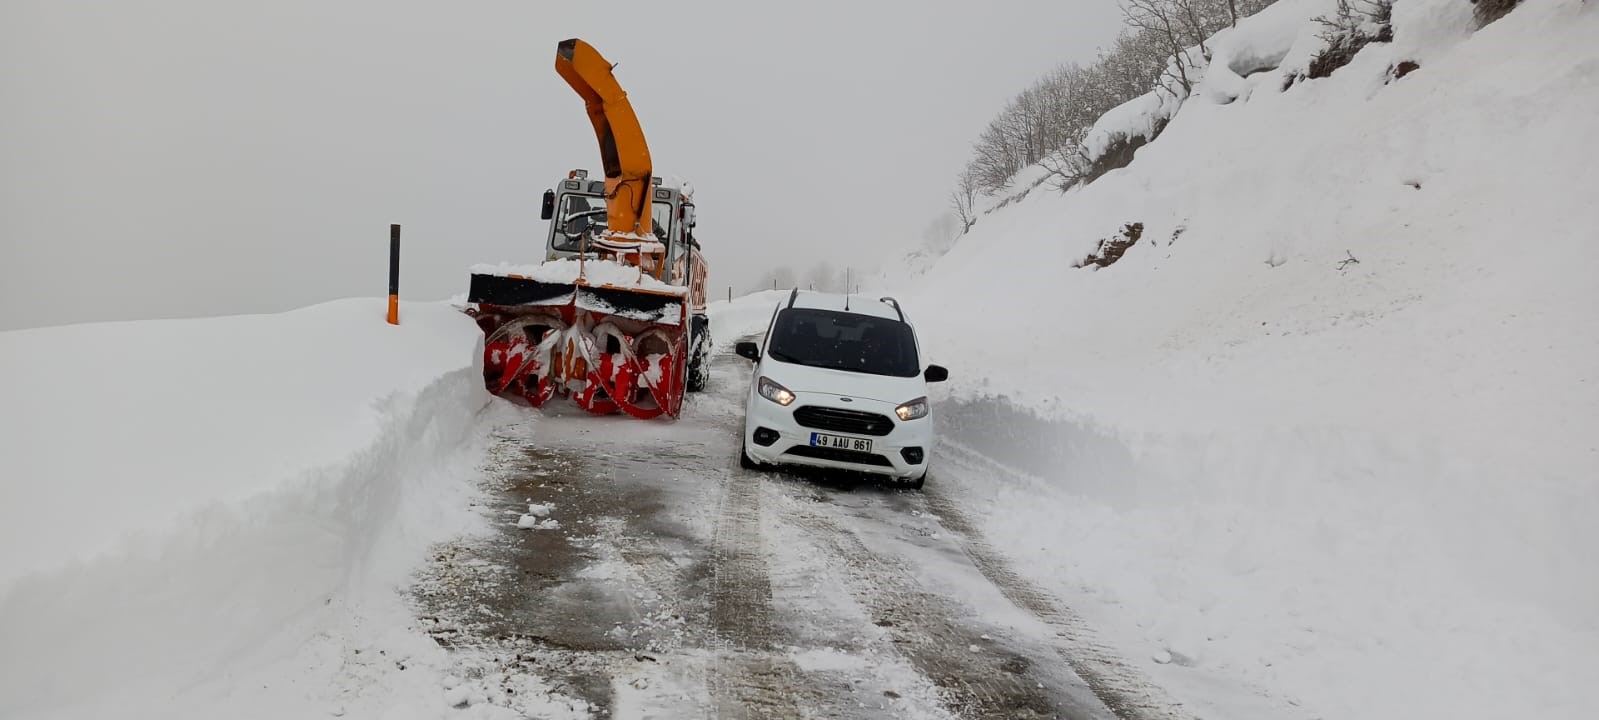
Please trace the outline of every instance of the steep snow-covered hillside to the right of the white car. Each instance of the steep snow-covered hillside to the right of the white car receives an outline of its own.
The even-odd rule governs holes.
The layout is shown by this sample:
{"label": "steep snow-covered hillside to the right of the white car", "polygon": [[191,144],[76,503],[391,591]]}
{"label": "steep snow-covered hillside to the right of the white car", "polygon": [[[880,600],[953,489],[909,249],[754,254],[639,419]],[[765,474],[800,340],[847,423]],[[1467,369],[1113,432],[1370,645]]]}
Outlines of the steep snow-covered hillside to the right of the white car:
{"label": "steep snow-covered hillside to the right of the white car", "polygon": [[1599,6],[1399,0],[1290,83],[1332,10],[1223,30],[1130,166],[927,274],[955,440],[1014,464],[990,533],[1196,707],[1591,717]]}

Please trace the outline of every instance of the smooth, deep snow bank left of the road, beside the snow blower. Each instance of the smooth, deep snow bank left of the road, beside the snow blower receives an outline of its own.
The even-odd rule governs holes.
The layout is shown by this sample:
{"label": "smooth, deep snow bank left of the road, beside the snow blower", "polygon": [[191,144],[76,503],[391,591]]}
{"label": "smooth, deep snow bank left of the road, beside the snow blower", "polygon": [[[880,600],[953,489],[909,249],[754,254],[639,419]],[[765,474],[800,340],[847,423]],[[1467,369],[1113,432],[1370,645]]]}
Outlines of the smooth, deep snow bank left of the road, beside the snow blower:
{"label": "smooth, deep snow bank left of the road, beside the snow blower", "polygon": [[382,318],[0,333],[0,715],[305,717],[352,643],[425,653],[395,586],[475,522],[489,398],[470,318]]}

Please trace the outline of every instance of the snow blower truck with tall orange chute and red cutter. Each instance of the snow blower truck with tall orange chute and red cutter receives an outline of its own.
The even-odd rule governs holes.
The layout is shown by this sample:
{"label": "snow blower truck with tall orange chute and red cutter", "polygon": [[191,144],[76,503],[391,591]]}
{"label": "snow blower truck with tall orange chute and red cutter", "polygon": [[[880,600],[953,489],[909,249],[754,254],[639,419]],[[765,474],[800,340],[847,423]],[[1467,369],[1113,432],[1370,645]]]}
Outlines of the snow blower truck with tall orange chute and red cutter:
{"label": "snow blower truck with tall orange chute and red cutter", "polygon": [[710,371],[707,264],[692,190],[651,174],[644,133],[611,69],[582,40],[558,45],[555,72],[584,99],[604,179],[574,170],[545,190],[544,261],[475,266],[465,312],[483,328],[489,392],[676,418],[683,394],[704,389]]}

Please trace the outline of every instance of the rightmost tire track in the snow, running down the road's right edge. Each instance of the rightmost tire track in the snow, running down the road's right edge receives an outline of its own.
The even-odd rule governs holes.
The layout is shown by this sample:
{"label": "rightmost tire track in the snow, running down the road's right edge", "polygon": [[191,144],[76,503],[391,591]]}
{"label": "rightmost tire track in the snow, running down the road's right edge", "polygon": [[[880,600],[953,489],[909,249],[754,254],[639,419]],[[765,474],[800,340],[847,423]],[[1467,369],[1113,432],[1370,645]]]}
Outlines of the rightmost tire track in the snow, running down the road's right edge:
{"label": "rightmost tire track in the snow, running down the road's right edge", "polygon": [[[1014,474],[1003,464],[959,446],[956,443],[940,443],[940,459],[961,466],[966,475],[979,474]],[[1142,672],[1130,667],[1121,656],[1099,642],[1083,618],[1076,616],[1049,592],[1039,589],[1031,581],[1022,578],[1011,562],[996,550],[985,538],[977,523],[959,509],[935,485],[927,485],[923,493],[927,509],[939,517],[940,525],[963,538],[966,555],[1001,594],[1019,608],[1027,610],[1035,618],[1055,630],[1055,651],[1071,667],[1078,677],[1087,683],[1119,720],[1177,720],[1186,718],[1175,702],[1164,698],[1158,688],[1143,680]]]}

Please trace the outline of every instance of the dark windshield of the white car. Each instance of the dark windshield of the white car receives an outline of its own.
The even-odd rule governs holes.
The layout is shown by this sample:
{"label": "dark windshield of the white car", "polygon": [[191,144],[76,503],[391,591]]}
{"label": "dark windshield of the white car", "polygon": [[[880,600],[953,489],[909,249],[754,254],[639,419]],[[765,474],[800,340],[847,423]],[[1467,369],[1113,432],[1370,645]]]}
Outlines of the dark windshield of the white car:
{"label": "dark windshield of the white car", "polygon": [[772,323],[766,352],[779,362],[852,373],[915,378],[916,338],[899,320],[790,307]]}

